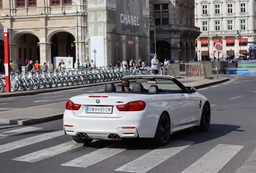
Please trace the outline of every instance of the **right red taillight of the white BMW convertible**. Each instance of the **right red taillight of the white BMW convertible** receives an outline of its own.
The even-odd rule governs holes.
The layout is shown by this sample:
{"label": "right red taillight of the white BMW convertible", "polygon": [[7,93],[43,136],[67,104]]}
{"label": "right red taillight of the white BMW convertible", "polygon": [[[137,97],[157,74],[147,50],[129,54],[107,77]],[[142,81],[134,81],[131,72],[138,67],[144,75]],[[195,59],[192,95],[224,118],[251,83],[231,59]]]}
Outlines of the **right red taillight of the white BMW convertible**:
{"label": "right red taillight of the white BMW convertible", "polygon": [[146,103],[144,101],[133,101],[125,105],[116,105],[118,111],[142,111],[145,107]]}

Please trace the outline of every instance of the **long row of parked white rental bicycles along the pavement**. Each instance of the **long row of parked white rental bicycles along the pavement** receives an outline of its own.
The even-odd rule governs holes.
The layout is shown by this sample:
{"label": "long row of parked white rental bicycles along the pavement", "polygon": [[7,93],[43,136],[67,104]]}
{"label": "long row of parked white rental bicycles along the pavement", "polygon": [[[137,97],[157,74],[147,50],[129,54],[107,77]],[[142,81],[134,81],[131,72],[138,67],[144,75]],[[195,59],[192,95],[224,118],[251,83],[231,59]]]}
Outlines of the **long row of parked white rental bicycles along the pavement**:
{"label": "long row of parked white rental bicycles along the pavement", "polygon": [[[105,68],[78,68],[78,69],[51,69],[36,72],[11,72],[10,90],[23,91],[31,89],[43,89],[50,87],[70,86],[94,82],[120,80],[123,72],[118,69]],[[0,77],[0,92],[5,91],[5,80]]]}

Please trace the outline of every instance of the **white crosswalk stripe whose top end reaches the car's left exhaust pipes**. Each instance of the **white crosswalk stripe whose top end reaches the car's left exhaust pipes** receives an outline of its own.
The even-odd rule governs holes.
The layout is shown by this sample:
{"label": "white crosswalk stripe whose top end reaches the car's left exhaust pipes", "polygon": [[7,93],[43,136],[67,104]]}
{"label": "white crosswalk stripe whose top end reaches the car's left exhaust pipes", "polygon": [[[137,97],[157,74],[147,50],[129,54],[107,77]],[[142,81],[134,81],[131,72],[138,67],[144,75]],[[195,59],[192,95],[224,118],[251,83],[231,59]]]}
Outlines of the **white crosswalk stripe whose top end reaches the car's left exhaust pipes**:
{"label": "white crosswalk stripe whose top end reaches the car's left exhaust pipes", "polygon": [[66,151],[76,149],[78,147],[82,147],[83,145],[84,145],[83,143],[76,143],[75,141],[69,141],[66,143],[62,143],[60,145],[56,145],[54,147],[50,147],[50,148],[43,149],[43,150],[40,150],[40,151],[37,151],[34,153],[23,155],[21,157],[17,157],[12,160],[35,163],[37,161],[47,159],[49,157],[64,153]]}

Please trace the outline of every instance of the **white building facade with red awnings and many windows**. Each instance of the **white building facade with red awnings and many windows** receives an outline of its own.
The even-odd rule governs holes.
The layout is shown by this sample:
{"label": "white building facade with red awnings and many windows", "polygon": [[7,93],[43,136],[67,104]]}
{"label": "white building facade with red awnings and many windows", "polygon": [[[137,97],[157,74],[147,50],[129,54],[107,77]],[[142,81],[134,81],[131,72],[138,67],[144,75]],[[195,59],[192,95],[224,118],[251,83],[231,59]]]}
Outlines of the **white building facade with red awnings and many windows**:
{"label": "white building facade with red awnings and many windows", "polygon": [[248,58],[249,45],[256,43],[255,4],[254,0],[195,0],[195,24],[201,30],[196,46],[198,58],[217,58],[217,42],[223,45],[224,58],[239,58],[238,54]]}

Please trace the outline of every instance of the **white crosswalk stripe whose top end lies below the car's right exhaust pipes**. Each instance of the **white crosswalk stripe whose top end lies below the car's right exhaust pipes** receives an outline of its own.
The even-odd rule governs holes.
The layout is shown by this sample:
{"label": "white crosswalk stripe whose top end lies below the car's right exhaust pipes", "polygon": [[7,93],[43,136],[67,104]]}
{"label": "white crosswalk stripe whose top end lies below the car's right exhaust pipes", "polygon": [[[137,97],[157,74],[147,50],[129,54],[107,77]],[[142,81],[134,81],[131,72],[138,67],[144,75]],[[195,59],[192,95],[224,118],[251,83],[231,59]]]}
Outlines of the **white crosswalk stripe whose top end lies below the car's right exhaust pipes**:
{"label": "white crosswalk stripe whose top end lies below the car's right exhaust pipes", "polygon": [[103,148],[82,157],[78,157],[72,161],[63,163],[62,166],[73,166],[73,167],[89,167],[95,163],[103,161],[113,155],[121,153],[125,149],[117,149],[117,148]]}

